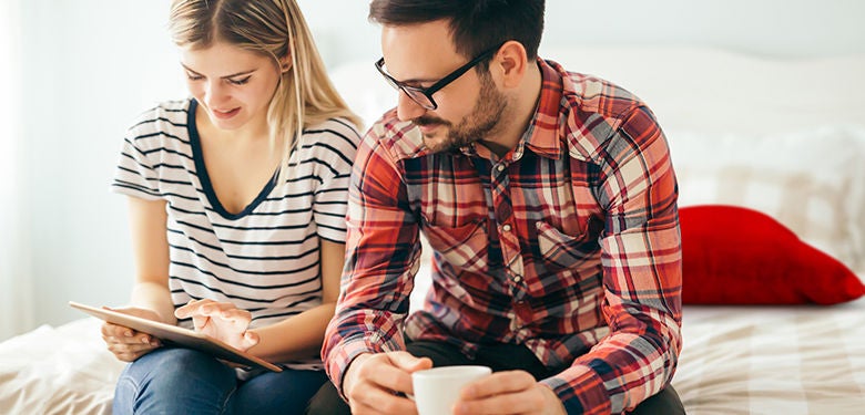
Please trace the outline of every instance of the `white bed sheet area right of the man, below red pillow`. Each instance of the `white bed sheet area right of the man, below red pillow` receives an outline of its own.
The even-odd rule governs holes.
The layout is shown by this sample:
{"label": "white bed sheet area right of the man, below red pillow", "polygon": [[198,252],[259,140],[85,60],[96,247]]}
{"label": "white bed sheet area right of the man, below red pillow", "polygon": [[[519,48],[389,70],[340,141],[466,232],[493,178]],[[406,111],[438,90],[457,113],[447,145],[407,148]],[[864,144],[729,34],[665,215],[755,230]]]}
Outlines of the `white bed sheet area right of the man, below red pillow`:
{"label": "white bed sheet area right of the man, below red pillow", "polygon": [[689,305],[673,385],[691,415],[865,413],[865,298]]}

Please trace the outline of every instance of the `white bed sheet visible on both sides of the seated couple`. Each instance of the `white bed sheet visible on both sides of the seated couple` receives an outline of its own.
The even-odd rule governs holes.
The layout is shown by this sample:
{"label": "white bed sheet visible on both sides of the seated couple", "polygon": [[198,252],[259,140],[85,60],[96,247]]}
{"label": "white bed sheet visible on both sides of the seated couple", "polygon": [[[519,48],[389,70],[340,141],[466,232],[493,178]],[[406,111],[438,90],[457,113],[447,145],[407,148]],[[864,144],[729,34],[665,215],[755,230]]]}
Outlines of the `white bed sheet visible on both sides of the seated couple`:
{"label": "white bed sheet visible on both sides of the seated couple", "polygon": [[[93,318],[0,343],[0,414],[110,414],[123,363]],[[691,415],[862,414],[865,298],[834,305],[686,305],[673,385]]]}

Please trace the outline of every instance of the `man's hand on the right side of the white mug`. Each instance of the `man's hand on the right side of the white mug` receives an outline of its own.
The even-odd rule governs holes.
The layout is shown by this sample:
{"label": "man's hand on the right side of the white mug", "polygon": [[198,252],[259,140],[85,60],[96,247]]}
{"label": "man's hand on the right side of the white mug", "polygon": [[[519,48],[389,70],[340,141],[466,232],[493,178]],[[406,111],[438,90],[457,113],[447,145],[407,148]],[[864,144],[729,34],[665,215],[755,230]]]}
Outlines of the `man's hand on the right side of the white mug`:
{"label": "man's hand on the right side of the white mug", "polygon": [[528,372],[497,372],[462,388],[455,415],[567,415],[559,396]]}

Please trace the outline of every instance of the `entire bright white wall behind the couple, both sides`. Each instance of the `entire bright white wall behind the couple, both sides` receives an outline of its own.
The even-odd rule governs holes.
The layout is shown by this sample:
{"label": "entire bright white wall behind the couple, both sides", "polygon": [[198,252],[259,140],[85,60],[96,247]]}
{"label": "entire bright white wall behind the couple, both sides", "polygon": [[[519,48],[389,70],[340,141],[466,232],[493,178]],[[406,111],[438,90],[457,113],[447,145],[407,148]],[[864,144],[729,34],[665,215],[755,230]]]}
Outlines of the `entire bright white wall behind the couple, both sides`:
{"label": "entire bright white wall behind the couple, both sides", "polygon": [[[329,68],[380,54],[367,1],[298,2]],[[126,207],[109,183],[130,121],[185,96],[167,3],[0,0],[0,341],[81,318],[69,300],[128,300]],[[855,0],[548,0],[543,48],[837,56],[865,53],[862,15]]]}

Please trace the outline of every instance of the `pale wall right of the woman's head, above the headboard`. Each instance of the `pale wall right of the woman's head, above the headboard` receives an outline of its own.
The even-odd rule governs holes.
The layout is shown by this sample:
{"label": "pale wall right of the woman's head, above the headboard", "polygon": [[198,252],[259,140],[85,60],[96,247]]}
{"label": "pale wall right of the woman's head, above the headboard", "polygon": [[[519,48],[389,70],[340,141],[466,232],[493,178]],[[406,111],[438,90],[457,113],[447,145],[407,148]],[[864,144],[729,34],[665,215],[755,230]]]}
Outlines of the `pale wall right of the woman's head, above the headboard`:
{"label": "pale wall right of the woman's head, above the headboard", "polygon": [[[380,55],[368,1],[298,3],[328,64]],[[858,0],[548,0],[542,44],[710,45],[784,58],[865,53],[863,17]]]}

